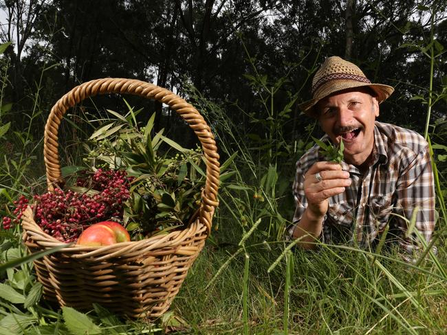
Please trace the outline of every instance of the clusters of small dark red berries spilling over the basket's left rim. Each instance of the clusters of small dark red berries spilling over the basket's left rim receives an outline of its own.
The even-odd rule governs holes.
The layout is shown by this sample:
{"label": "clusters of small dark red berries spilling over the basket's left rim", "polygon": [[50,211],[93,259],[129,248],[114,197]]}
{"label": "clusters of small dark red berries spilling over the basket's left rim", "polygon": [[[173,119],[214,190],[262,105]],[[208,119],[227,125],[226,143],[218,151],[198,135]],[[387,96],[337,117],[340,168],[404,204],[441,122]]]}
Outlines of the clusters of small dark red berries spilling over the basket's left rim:
{"label": "clusters of small dark red berries spilling over the basket's left rim", "polygon": [[[74,242],[83,229],[95,222],[112,217],[122,218],[123,203],[130,197],[129,187],[132,179],[133,177],[128,177],[124,170],[85,173],[83,177],[78,178],[76,184],[94,189],[97,193],[90,195],[55,189],[54,192],[36,195],[32,206],[34,220],[45,233],[54,238],[62,242]],[[14,205],[17,218],[13,221],[18,223],[28,206],[28,199],[21,196]],[[10,218],[3,218],[3,227],[9,229],[10,222]]]}

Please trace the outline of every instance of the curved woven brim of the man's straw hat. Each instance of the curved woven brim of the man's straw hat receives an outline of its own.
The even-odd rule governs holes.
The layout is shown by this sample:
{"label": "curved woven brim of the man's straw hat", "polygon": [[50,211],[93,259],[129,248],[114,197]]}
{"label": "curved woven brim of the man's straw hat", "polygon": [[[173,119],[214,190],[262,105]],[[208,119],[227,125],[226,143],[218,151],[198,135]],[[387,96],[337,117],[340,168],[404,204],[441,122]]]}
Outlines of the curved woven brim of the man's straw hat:
{"label": "curved woven brim of the man's straw hat", "polygon": [[302,102],[301,104],[298,104],[298,108],[301,109],[304,113],[311,117],[316,117],[317,113],[315,111],[315,105],[325,97],[328,97],[331,94],[334,94],[338,91],[344,91],[346,89],[355,89],[356,87],[369,87],[377,94],[377,100],[379,104],[383,102],[384,100],[388,99],[388,97],[394,92],[394,88],[389,85],[384,84],[368,84],[364,82],[353,82],[351,80],[337,80],[337,84],[334,85],[334,82],[328,82],[328,87],[322,87],[318,91],[322,92],[318,94],[319,96],[307,100],[306,102]]}

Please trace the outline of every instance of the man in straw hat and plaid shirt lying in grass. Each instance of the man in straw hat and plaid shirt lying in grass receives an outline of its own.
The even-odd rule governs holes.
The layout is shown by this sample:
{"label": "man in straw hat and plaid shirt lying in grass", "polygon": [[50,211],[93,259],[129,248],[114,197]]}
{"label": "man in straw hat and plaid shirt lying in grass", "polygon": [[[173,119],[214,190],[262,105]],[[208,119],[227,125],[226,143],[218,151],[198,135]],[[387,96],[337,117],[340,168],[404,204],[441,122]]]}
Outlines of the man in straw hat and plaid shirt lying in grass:
{"label": "man in straw hat and plaid shirt lying in grass", "polygon": [[[435,227],[435,188],[424,138],[412,130],[375,121],[379,104],[394,89],[372,84],[351,62],[330,57],[312,81],[312,100],[300,104],[318,119],[322,141],[345,150],[341,164],[329,162],[314,146],[296,163],[296,200],[292,238],[314,249],[316,239],[332,244],[373,248],[387,224],[387,240],[395,240],[411,261],[417,250],[407,222],[415,222],[425,240]],[[391,238],[393,237],[393,238]]]}

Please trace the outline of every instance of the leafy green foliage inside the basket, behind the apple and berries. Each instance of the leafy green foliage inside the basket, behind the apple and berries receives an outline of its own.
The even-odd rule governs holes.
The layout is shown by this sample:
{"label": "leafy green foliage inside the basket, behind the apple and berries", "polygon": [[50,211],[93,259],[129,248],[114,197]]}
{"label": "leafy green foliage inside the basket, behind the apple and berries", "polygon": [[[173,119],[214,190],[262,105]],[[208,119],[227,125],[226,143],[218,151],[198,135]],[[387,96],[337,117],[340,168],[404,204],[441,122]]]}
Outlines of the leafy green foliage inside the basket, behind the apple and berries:
{"label": "leafy green foliage inside the basket, behind the apple and berries", "polygon": [[123,218],[133,239],[187,224],[199,207],[206,178],[201,148],[182,148],[164,137],[164,129],[155,133],[155,113],[143,127],[131,108],[125,116],[109,113],[116,119],[91,135],[84,161],[94,169],[124,168],[135,177]]}

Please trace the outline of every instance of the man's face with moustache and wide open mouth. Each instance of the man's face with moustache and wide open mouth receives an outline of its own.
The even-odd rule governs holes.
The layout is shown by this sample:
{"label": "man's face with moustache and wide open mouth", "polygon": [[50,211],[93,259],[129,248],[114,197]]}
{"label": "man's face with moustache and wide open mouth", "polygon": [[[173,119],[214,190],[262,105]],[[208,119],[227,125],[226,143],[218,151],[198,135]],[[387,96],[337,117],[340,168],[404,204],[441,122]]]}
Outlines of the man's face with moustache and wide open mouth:
{"label": "man's face with moustache and wide open mouth", "polygon": [[333,143],[345,144],[345,161],[362,165],[374,146],[374,121],[379,104],[364,89],[341,91],[318,102],[318,121]]}

